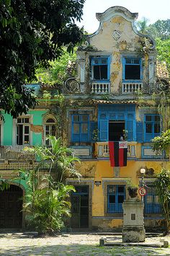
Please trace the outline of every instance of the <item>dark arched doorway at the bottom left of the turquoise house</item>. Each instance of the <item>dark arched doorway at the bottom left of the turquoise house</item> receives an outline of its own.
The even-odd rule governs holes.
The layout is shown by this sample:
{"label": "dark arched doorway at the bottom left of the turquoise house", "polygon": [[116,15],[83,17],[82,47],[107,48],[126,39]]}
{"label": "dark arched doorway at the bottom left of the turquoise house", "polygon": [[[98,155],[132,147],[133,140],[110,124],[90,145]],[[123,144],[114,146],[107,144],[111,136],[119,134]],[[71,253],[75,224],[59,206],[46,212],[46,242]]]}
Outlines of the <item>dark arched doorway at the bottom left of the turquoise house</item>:
{"label": "dark arched doorway at the bottom left of the turquoise house", "polygon": [[10,185],[0,192],[0,229],[22,228],[23,190],[17,185]]}

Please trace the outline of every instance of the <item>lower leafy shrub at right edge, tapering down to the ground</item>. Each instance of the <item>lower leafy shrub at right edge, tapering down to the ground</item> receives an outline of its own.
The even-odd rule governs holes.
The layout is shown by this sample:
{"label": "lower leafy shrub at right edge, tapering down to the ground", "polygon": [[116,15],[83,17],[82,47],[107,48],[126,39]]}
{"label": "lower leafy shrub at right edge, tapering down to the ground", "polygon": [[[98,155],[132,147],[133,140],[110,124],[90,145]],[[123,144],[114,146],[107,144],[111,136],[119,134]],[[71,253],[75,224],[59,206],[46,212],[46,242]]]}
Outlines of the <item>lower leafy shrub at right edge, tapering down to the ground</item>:
{"label": "lower leafy shrub at right edge, tapering down to the ground", "polygon": [[170,229],[170,171],[168,169],[162,169],[157,175],[155,181],[156,191],[160,200],[161,206],[164,210],[164,216],[166,219],[166,231]]}

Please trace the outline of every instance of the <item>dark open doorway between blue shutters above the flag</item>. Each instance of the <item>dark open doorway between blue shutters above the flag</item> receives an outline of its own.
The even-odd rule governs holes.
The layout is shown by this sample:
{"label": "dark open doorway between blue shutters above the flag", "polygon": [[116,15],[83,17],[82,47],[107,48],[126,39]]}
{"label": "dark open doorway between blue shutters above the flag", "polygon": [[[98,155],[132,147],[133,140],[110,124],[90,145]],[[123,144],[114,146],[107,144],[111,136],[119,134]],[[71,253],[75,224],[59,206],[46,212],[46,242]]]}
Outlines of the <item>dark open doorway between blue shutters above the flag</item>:
{"label": "dark open doorway between blue shutters above the flag", "polygon": [[109,141],[120,141],[120,137],[123,139],[125,131],[125,121],[109,121]]}

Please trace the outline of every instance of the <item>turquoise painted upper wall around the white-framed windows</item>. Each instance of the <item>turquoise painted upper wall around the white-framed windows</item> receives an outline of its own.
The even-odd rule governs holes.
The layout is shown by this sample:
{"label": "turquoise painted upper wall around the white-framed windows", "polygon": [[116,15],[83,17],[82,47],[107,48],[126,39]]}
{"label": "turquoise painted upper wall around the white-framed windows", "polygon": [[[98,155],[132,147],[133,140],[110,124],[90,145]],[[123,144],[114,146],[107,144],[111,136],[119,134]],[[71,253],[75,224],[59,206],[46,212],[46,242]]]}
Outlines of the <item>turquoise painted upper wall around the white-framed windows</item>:
{"label": "turquoise painted upper wall around the white-framed windows", "polygon": [[[33,115],[33,125],[42,125],[43,115],[48,110],[31,110],[28,114]],[[12,145],[13,118],[11,115],[4,114],[4,146]],[[42,133],[32,132],[32,145],[42,144]]]}

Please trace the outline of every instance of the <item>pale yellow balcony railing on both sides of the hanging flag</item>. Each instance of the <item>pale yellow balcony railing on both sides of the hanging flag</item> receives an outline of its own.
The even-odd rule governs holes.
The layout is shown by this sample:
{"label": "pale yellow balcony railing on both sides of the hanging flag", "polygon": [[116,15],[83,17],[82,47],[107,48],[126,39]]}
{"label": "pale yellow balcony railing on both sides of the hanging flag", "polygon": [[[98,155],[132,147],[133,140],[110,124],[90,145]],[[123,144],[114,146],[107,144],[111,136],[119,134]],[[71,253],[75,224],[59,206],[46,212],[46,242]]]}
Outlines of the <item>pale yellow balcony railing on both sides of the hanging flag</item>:
{"label": "pale yellow balcony railing on both sides of the hanging flag", "polygon": [[[97,157],[109,157],[109,144],[108,142],[97,142]],[[128,142],[128,157],[136,157],[136,143],[134,141]]]}

